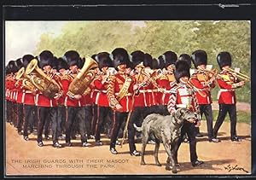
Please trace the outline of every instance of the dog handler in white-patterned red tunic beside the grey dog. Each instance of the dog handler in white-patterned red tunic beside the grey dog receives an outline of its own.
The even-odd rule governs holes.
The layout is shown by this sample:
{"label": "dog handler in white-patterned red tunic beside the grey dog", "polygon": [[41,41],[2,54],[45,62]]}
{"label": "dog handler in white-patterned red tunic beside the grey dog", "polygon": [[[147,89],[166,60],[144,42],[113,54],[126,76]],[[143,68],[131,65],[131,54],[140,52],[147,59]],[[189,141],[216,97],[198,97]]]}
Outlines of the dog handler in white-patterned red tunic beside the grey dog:
{"label": "dog handler in white-patterned red tunic beside the grey dog", "polygon": [[[178,108],[188,108],[189,110],[200,114],[199,106],[195,96],[195,89],[189,85],[189,65],[186,61],[177,61],[175,64],[176,70],[174,72],[177,86],[174,87],[175,92],[172,93],[168,102],[168,111],[173,114]],[[194,123],[184,122],[181,130],[181,136],[177,140],[177,148],[179,148],[182,137],[185,133],[189,136],[189,150],[190,150],[190,161],[193,166],[203,164],[203,161],[198,160],[196,154],[196,138],[195,138],[195,127],[200,126],[200,119]],[[176,151],[177,152],[177,151]],[[177,154],[175,154],[177,157]],[[177,162],[176,162],[177,164]]]}

